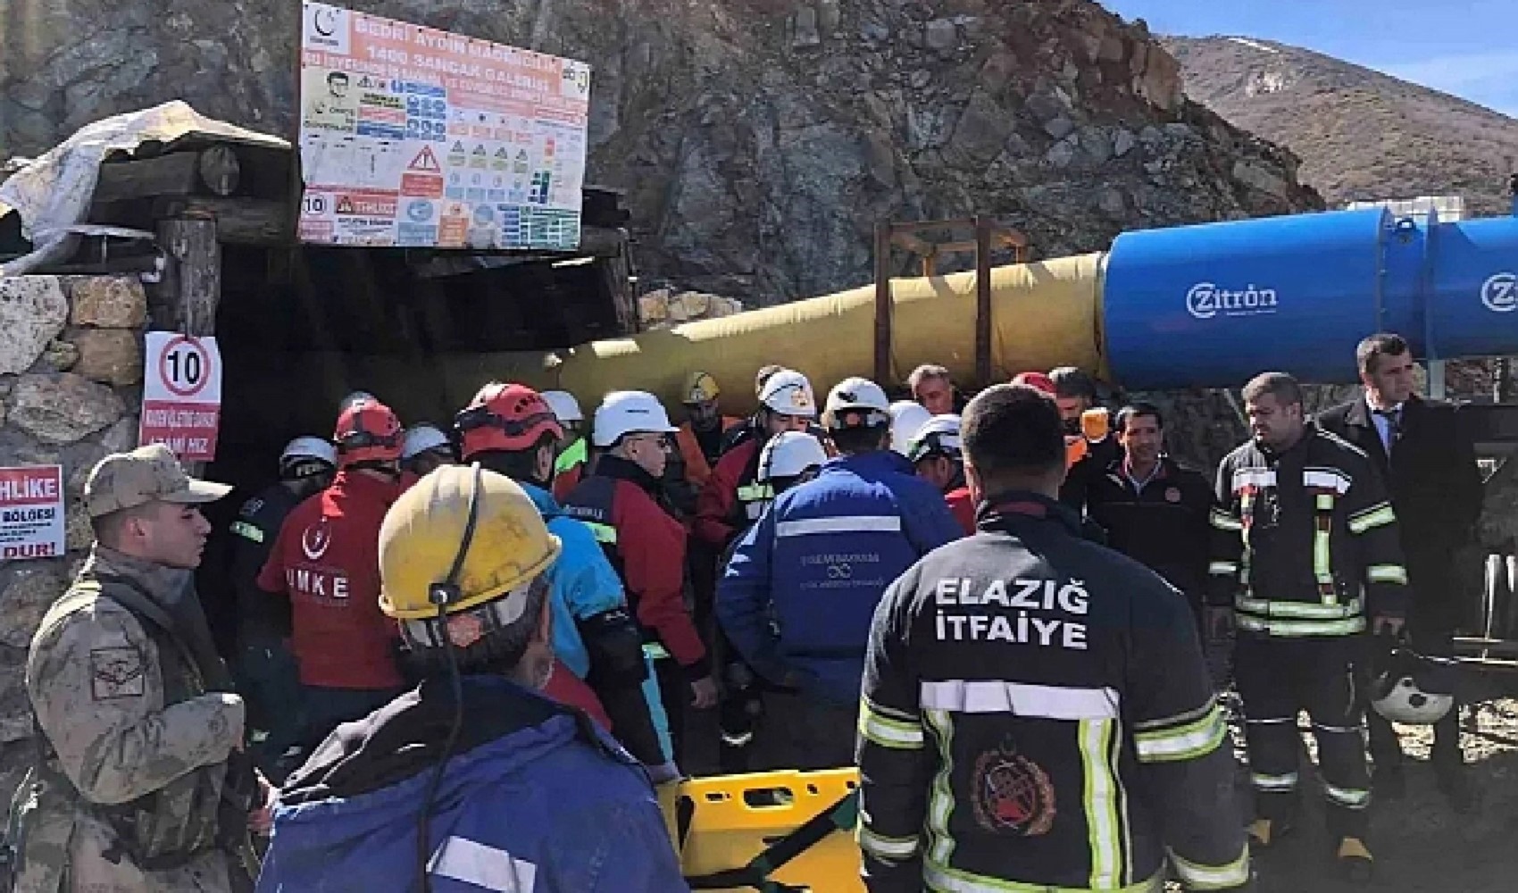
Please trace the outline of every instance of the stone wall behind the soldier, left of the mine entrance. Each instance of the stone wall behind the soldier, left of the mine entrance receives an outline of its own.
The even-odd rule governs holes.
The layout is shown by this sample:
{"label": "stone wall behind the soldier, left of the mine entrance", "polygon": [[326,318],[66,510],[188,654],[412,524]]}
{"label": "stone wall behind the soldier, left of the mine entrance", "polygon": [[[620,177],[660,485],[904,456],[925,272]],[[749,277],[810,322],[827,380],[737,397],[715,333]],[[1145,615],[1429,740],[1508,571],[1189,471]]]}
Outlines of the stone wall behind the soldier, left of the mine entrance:
{"label": "stone wall behind the soldier, left of the mine entrance", "polygon": [[68,532],[65,557],[0,562],[0,803],[32,753],[27,645],[93,539],[85,478],[137,445],[146,322],[132,278],[0,278],[0,466],[61,465]]}

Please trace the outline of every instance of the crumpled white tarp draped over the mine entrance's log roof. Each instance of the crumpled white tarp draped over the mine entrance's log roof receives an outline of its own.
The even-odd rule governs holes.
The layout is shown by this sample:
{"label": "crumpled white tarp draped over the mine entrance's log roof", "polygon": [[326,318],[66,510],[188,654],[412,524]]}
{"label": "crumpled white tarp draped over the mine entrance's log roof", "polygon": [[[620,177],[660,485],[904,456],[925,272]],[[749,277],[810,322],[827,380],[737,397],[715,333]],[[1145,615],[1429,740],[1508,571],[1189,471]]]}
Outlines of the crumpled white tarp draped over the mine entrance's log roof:
{"label": "crumpled white tarp draped over the mine entrance's log roof", "polygon": [[170,144],[185,137],[290,149],[290,143],[208,118],[175,100],[83,126],[41,158],[0,184],[0,217],[21,216],[21,235],[33,252],[0,266],[0,275],[18,276],[58,260],[68,243],[68,228],[90,213],[100,164],[117,152],[134,153],[143,143]]}

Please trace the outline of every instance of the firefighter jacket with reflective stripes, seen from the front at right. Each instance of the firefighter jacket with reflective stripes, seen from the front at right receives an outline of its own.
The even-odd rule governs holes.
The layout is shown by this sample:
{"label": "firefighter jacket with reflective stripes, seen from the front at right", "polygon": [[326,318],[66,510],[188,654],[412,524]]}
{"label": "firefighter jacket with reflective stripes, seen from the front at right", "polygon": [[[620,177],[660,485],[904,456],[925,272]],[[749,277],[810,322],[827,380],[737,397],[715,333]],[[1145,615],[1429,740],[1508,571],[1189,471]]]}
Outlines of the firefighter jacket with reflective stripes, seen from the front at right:
{"label": "firefighter jacket with reflective stripes, seen from the front at right", "polygon": [[1346,636],[1401,617],[1407,571],[1397,513],[1365,451],[1307,424],[1284,453],[1252,440],[1217,466],[1208,603],[1240,632]]}

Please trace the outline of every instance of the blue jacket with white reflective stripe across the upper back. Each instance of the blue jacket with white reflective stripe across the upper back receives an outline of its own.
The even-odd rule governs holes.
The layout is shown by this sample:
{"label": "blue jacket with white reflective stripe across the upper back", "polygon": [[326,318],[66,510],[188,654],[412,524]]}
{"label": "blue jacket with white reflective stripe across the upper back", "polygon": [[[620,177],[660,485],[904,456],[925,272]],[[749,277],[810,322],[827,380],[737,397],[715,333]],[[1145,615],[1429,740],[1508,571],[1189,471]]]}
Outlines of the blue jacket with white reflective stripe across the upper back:
{"label": "blue jacket with white reflective stripe across the upper back", "polygon": [[961,536],[943,494],[896,453],[833,459],[780,494],[739,541],[718,583],[716,617],[771,682],[856,703],[885,588]]}

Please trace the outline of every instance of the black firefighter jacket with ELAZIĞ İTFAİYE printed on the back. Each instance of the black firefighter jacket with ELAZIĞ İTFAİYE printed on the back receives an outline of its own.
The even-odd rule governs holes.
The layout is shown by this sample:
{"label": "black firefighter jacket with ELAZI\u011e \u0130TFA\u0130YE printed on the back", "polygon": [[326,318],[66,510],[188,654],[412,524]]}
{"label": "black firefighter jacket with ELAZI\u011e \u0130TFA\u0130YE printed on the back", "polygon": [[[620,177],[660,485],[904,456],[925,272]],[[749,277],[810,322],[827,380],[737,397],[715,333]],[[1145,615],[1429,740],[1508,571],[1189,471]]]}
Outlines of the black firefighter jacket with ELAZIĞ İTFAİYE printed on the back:
{"label": "black firefighter jacket with ELAZI\u011e \u0130TFA\u0130YE printed on the back", "polygon": [[870,893],[1249,882],[1192,612],[1067,507],[1005,494],[903,574],[859,714]]}

